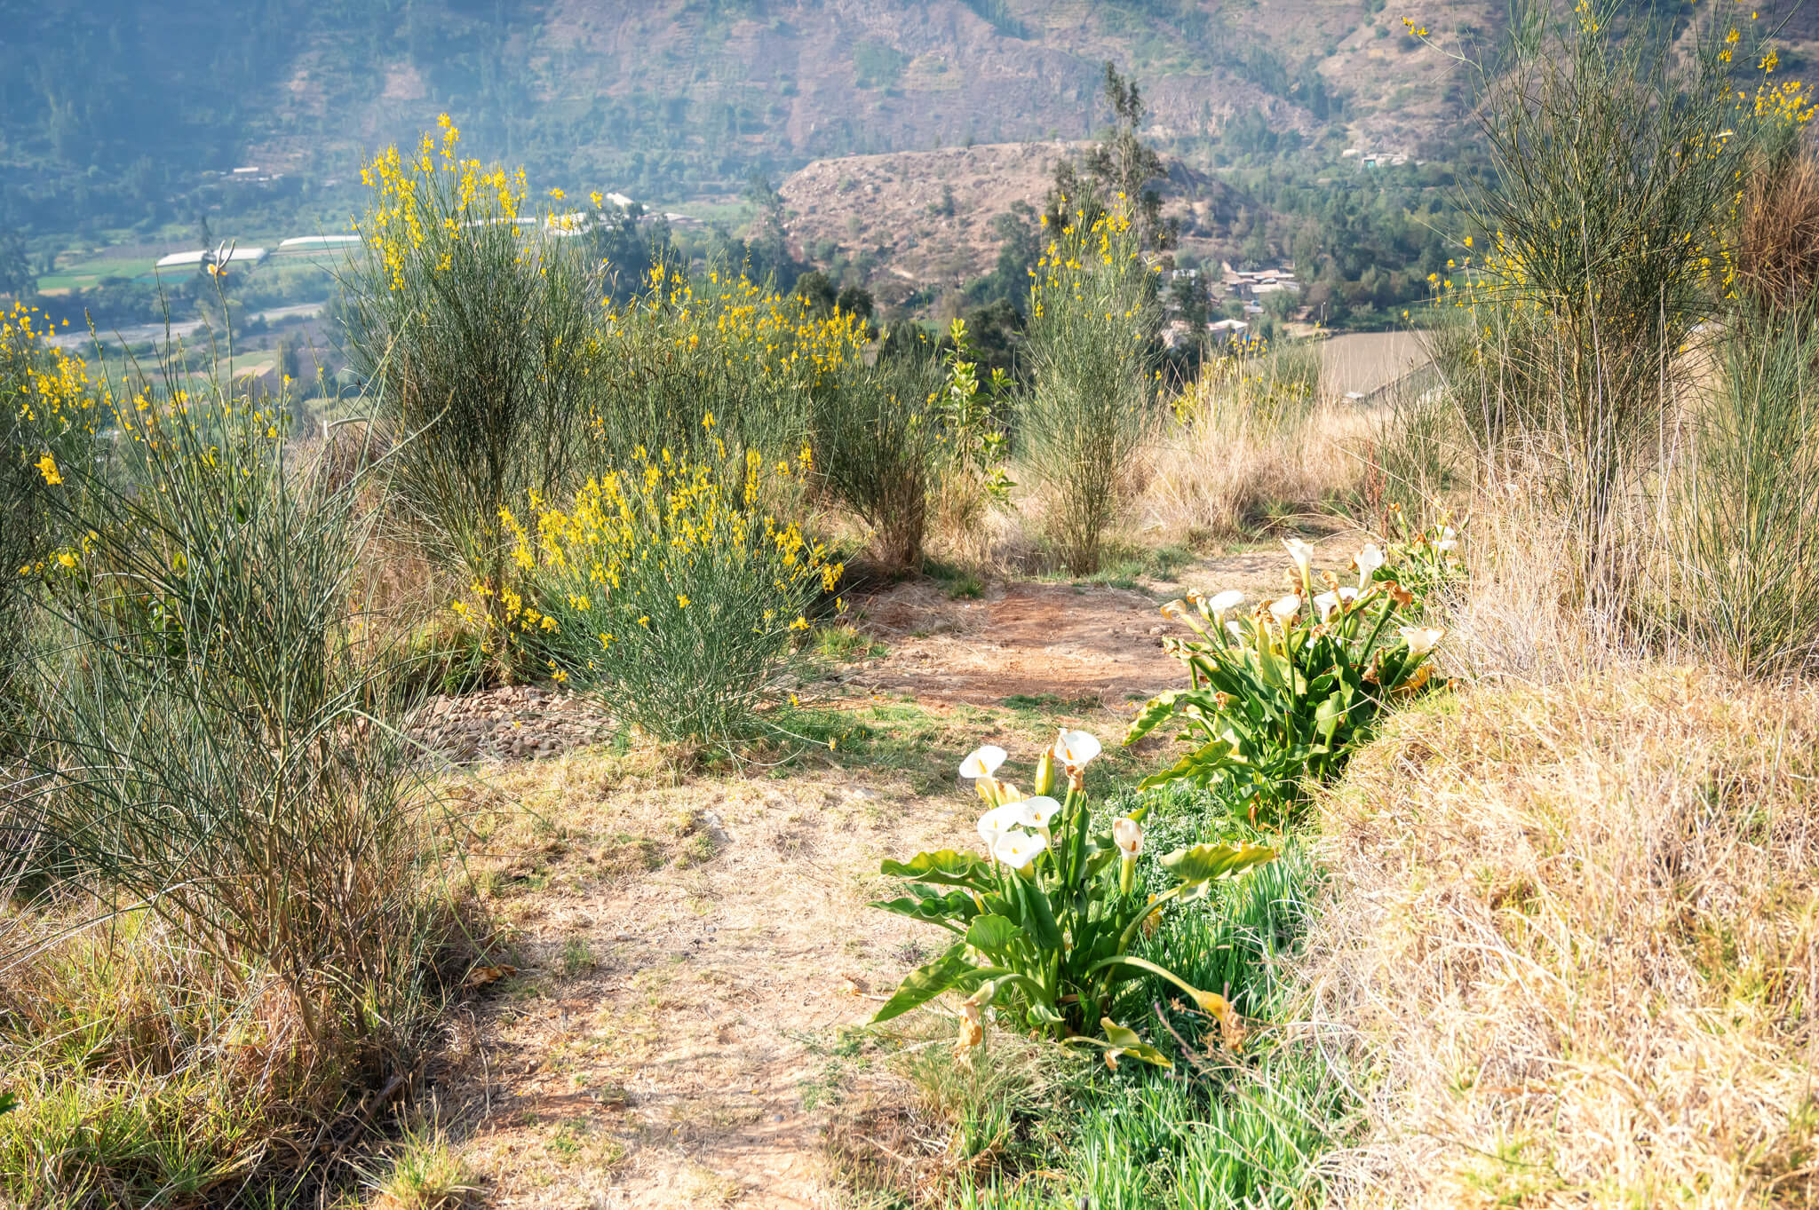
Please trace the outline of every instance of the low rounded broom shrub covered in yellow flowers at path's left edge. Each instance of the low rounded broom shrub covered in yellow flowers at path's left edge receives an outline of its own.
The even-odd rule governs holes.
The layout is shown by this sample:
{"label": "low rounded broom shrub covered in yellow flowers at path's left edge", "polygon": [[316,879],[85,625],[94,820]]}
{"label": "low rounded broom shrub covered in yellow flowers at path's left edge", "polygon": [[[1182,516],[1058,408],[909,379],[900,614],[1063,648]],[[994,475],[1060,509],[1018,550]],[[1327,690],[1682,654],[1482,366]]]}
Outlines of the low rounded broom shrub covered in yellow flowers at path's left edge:
{"label": "low rounded broom shrub covered in yellow flowers at path's left edge", "polygon": [[606,696],[653,736],[749,738],[808,630],[802,610],[840,576],[782,520],[808,472],[808,451],[769,465],[751,452],[728,489],[719,467],[640,452],[568,509],[533,503],[535,532],[508,516],[531,594],[508,610],[558,681]]}

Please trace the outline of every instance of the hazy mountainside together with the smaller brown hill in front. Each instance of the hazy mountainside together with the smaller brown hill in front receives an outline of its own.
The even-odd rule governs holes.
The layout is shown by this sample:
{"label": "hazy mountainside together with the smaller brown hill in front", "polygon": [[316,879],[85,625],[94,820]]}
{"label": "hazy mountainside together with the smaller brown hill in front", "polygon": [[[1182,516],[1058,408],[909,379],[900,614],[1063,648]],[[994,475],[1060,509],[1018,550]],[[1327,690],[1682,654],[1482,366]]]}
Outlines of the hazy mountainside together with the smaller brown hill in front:
{"label": "hazy mountainside together with the smaller brown hill in front", "polygon": [[[1777,11],[1801,74],[1819,9]],[[1030,238],[1011,205],[1104,124],[1110,60],[1177,165],[1188,263],[1319,262],[1328,293],[1392,314],[1444,263],[1432,227],[1477,156],[1464,60],[1504,20],[1502,0],[0,0],[0,293],[346,231],[362,154],[449,113],[538,191],[737,234],[768,180],[804,263],[906,305],[982,302]]]}

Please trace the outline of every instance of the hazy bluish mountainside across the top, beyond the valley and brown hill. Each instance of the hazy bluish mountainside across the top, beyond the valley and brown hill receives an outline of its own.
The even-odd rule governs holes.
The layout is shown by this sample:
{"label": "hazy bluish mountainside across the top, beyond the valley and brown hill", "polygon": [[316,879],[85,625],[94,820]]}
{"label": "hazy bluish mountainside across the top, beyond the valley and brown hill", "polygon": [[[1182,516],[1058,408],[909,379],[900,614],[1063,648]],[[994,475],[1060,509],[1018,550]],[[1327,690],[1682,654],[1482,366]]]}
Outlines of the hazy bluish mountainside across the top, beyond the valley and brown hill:
{"label": "hazy bluish mountainside across the top, beyond the valley and brown hill", "polygon": [[[1664,0],[1663,0],[1664,4]],[[1775,7],[1764,5],[1764,20]],[[307,187],[447,111],[484,158],[680,200],[811,160],[1077,140],[1113,60],[1150,134],[1437,156],[1502,0],[0,0],[0,222],[151,222],[206,171]],[[1684,5],[1675,5],[1683,9]],[[1808,5],[1812,7],[1812,5]],[[1799,11],[1795,42],[1819,31]],[[1801,47],[1784,56],[1801,67]],[[171,214],[162,214],[169,220]]]}

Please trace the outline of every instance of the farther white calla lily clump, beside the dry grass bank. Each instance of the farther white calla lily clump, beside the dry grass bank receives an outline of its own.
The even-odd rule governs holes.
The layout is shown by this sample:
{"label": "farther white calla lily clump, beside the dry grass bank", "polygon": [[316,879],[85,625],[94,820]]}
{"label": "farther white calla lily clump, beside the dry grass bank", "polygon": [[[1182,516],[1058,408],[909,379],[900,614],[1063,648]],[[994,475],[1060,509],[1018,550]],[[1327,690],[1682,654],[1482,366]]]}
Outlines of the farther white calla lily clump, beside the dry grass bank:
{"label": "farther white calla lily clump, beside the dry grass bank", "polygon": [[1188,665],[1188,689],[1146,701],[1124,736],[1135,743],[1166,721],[1182,727],[1195,750],[1151,774],[1142,788],[1170,781],[1226,787],[1251,823],[1279,821],[1301,805],[1306,781],[1330,779],[1397,698],[1415,694],[1433,669],[1428,656],[1442,632],[1410,621],[1413,592],[1397,576],[1441,583],[1452,569],[1453,531],[1435,527],[1392,547],[1366,545],[1353,560],[1357,585],[1326,572],[1313,592],[1313,549],[1288,540],[1295,590],[1241,612],[1242,592],[1193,609],[1170,601],[1162,614],[1199,640],[1170,640]]}

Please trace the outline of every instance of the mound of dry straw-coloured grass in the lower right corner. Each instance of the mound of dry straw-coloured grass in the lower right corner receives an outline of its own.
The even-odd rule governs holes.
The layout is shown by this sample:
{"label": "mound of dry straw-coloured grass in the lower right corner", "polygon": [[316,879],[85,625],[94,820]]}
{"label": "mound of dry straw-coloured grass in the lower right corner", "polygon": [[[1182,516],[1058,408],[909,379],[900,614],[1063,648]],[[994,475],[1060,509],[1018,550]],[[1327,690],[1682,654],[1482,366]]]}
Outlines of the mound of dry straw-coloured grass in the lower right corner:
{"label": "mound of dry straw-coloured grass in the lower right corner", "polygon": [[1404,714],[1324,812],[1355,1206],[1819,1205],[1819,690],[1612,672]]}

